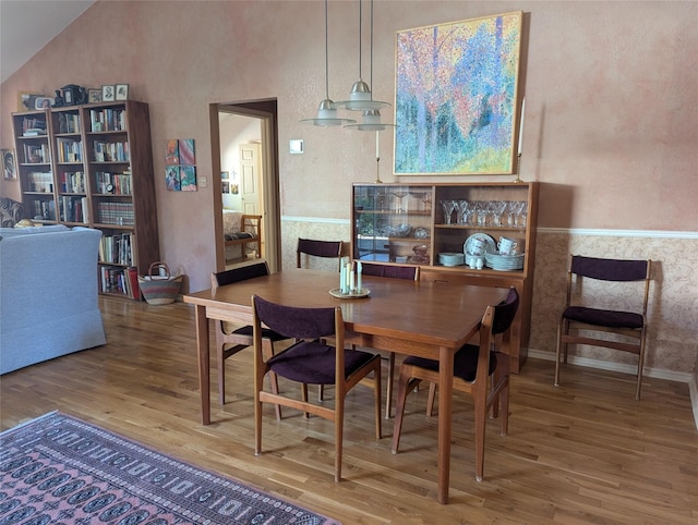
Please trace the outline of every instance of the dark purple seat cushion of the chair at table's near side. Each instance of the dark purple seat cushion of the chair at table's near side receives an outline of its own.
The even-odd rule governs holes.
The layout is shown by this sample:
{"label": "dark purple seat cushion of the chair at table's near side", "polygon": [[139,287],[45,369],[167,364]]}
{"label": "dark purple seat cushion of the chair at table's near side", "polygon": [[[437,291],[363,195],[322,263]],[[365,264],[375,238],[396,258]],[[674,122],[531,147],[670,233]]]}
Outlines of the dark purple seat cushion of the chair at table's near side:
{"label": "dark purple seat cushion of the chair at table's near side", "polygon": [[[375,358],[360,350],[345,350],[345,377]],[[301,341],[268,361],[269,368],[287,379],[309,384],[335,384],[335,347]]]}

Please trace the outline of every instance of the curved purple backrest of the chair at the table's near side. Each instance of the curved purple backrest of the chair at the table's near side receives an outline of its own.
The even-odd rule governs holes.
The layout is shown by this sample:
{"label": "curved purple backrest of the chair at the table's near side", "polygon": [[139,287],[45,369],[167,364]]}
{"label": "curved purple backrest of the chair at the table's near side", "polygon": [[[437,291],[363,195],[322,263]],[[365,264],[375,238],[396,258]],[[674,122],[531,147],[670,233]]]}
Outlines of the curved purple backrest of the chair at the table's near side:
{"label": "curved purple backrest of the chair at the table's near side", "polygon": [[270,303],[254,296],[262,323],[290,339],[321,339],[335,334],[337,308],[299,308]]}

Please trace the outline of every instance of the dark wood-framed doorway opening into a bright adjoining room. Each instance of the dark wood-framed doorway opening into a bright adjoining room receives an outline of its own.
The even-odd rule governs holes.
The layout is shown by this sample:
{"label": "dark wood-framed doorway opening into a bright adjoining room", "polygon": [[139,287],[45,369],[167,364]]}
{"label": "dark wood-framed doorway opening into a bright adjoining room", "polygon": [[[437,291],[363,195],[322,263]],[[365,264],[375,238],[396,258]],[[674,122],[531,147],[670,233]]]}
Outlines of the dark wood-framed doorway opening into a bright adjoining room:
{"label": "dark wood-framed doorway opening into a bright adjoining room", "polygon": [[[213,199],[216,271],[226,269],[224,209],[256,209],[262,216],[262,255],[269,265],[269,270],[276,272],[281,268],[276,99],[212,103],[209,118],[212,167],[215,174],[212,179],[218,185]],[[226,132],[226,125],[221,122],[229,119],[236,120],[233,129],[248,130],[242,142],[234,142],[237,139]],[[258,138],[252,138],[251,133],[254,132],[250,130],[255,129],[258,129]],[[236,154],[231,155],[231,151]],[[258,158],[250,158],[255,155]]]}

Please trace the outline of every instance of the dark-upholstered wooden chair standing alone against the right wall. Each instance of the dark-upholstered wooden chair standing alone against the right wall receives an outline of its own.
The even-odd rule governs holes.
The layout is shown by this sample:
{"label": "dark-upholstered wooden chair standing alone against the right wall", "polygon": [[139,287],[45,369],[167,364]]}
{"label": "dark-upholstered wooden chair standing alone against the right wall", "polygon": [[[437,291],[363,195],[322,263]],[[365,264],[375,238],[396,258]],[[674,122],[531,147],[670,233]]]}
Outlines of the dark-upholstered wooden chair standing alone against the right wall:
{"label": "dark-upholstered wooden chair standing alone against the right wall", "polygon": [[[567,363],[568,344],[602,346],[629,352],[638,356],[635,399],[640,400],[651,268],[652,261],[645,259],[569,256],[567,298],[557,326],[556,387],[559,386],[561,357]],[[624,306],[602,306],[599,294],[592,294],[589,291],[582,293],[583,284],[586,283],[588,289],[593,281],[603,281],[605,289],[609,289],[614,282],[626,283],[627,286],[623,285],[623,292],[618,290],[618,293],[630,293],[631,295],[618,297]],[[633,290],[626,290],[626,288]],[[628,303],[634,303],[634,306]],[[635,312],[629,312],[631,308],[635,308]]]}

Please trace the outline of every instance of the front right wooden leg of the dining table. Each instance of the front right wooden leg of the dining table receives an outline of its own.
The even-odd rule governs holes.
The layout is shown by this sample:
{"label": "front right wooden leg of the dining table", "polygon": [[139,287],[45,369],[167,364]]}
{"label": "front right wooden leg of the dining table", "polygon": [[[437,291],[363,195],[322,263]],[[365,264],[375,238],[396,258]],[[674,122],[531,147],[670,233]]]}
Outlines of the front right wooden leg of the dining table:
{"label": "front right wooden leg of the dining table", "polygon": [[438,349],[438,485],[436,501],[448,503],[450,429],[454,390],[454,351]]}

